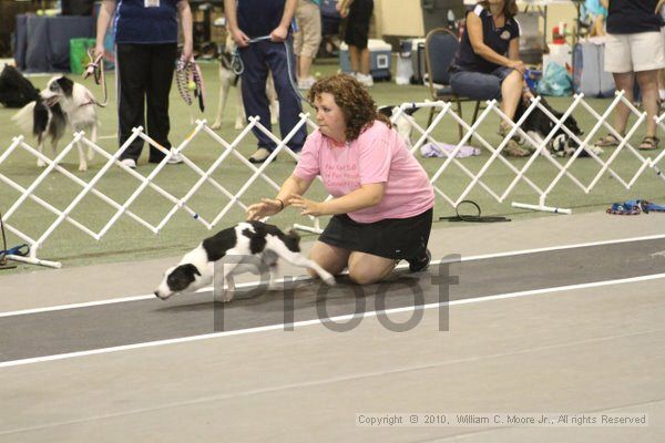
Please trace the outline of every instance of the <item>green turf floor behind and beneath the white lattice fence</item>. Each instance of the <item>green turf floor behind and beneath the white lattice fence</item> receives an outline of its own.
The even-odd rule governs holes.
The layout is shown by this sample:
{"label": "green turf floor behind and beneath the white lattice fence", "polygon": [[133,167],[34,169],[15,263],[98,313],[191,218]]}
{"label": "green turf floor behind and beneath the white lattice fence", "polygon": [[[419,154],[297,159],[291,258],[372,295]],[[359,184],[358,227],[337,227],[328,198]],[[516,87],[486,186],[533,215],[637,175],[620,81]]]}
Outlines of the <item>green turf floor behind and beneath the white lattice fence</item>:
{"label": "green turf floor behind and beneath the white lattice fence", "polygon": [[[204,114],[195,107],[186,106],[180,97],[177,89],[172,89],[171,95],[171,142],[173,145],[181,144],[188,134],[192,133],[192,119],[206,119],[212,124],[215,119],[217,106],[217,65],[214,62],[201,63],[207,90],[207,106]],[[327,75],[337,71],[336,64],[317,63],[314,66],[315,72],[320,72]],[[49,76],[32,76],[31,81],[38,87],[42,87]],[[101,120],[100,141],[99,145],[105,151],[112,153],[117,148],[117,142],[114,137],[116,132],[116,113],[115,113],[115,95],[114,95],[114,76],[112,73],[108,75],[108,84],[110,89],[110,105],[106,109],[100,110]],[[93,92],[100,96],[101,90],[90,83],[88,85]],[[395,83],[378,82],[371,89],[371,94],[379,105],[399,104],[402,102],[420,102],[429,96],[429,90],[423,86],[408,85],[397,86]],[[561,111],[565,110],[572,102],[571,97],[552,97],[550,103]],[[610,100],[589,99],[586,102],[602,113],[611,103]],[[226,117],[224,124],[217,134],[227,142],[234,141],[238,131],[233,128],[235,117],[235,92],[227,103]],[[471,115],[472,104],[464,105],[464,116],[469,120]],[[311,110],[306,107],[306,112]],[[14,110],[0,109],[0,153],[11,144],[12,137],[18,135],[18,128],[11,123],[10,117]],[[589,131],[595,123],[595,119],[583,111],[581,107],[575,111],[574,116],[584,131]],[[424,126],[427,123],[428,112],[420,111],[416,114],[417,122]],[[497,135],[498,117],[491,115],[482,125],[479,133],[485,140],[497,145],[500,141]],[[457,143],[458,132],[457,125],[450,117],[446,117],[433,132],[433,137],[440,142]],[[601,130],[598,135],[605,134],[606,130]],[[643,127],[638,128],[632,142],[636,145],[644,135]],[[597,136],[594,136],[594,140]],[[71,141],[71,135],[66,135],[61,143],[63,146]],[[28,143],[33,144],[31,138]],[[481,146],[478,142],[472,144]],[[62,147],[61,146],[61,147]],[[255,150],[255,140],[249,134],[239,144],[239,152],[244,155],[250,154]],[[223,146],[213,140],[209,135],[203,133],[196,136],[185,151],[185,154],[194,163],[203,169],[206,169],[212,163],[223,153]],[[49,153],[49,150],[47,150]],[[50,154],[50,153],[49,153]],[[603,158],[608,158],[612,151],[606,151],[602,155]],[[147,152],[144,148],[143,156],[136,169],[141,175],[147,176],[154,165],[146,163]],[[487,150],[477,157],[460,159],[473,174],[477,174],[487,163],[490,153]],[[652,156],[655,154],[652,153]],[[563,164],[565,159],[557,159]],[[21,186],[28,187],[34,178],[41,173],[37,168],[35,159],[23,150],[17,151],[8,161],[0,165],[0,173],[19,183]],[[75,176],[84,181],[91,179],[102,167],[105,162],[98,155],[90,163],[86,173],[78,173],[78,157],[74,151],[68,155],[63,166],[72,172]],[[439,158],[421,158],[421,163],[430,174],[430,176],[441,166],[442,159]],[[526,163],[526,159],[510,158],[509,163],[518,168],[521,168]],[[280,184],[286,178],[295,166],[293,158],[286,154],[282,154],[276,162],[268,166],[267,175],[277,184]],[[638,168],[636,158],[625,150],[616,158],[613,164],[616,171],[624,179],[630,179]],[[575,162],[571,168],[571,173],[580,178],[584,185],[591,183],[593,177],[598,174],[601,166],[590,158],[581,158]],[[559,171],[543,157],[539,157],[526,176],[535,186],[544,189],[555,177]],[[222,166],[215,171],[213,178],[223,185],[231,194],[235,194],[246,183],[250,176],[250,171],[243,165],[233,155],[229,156]],[[200,176],[195,174],[186,165],[167,166],[155,178],[155,184],[172,193],[177,198],[183,197],[192,186],[198,181]],[[501,195],[503,190],[511,184],[514,178],[514,173],[510,171],[501,161],[497,159],[491,168],[482,176],[482,181],[491,189]],[[452,199],[458,196],[470,184],[471,178],[466,175],[460,167],[451,164],[446,174],[443,174],[436,185],[449,195]],[[109,197],[116,202],[124,202],[136,189],[140,182],[131,177],[120,168],[113,168],[100,181],[99,190],[103,192]],[[64,209],[80,192],[81,187],[72,181],[65,178],[60,173],[53,173],[35,189],[35,195],[59,209]],[[241,197],[242,202],[253,203],[263,196],[273,196],[275,190],[265,181],[258,179],[247,192]],[[313,198],[325,197],[325,192],[320,184],[315,185],[309,194]],[[11,189],[4,183],[0,184],[0,210],[6,212],[20,194]],[[533,213],[528,210],[513,209],[510,206],[511,202],[521,203],[538,203],[538,196],[531,187],[524,182],[520,182],[504,202],[498,203],[480,186],[475,186],[468,198],[478,202],[483,214],[492,215],[509,215],[512,218],[538,217],[538,216],[556,216],[543,213]],[[575,212],[598,210],[606,207],[612,202],[624,200],[627,198],[645,198],[653,202],[665,203],[665,186],[662,179],[647,171],[637,181],[633,189],[626,190],[616,179],[610,174],[601,174],[595,188],[590,194],[584,194],[569,178],[563,178],[557,186],[550,193],[546,204],[549,206],[570,207]],[[196,210],[203,219],[212,220],[219,214],[229,203],[229,198],[221,193],[211,184],[205,184],[190,200],[190,205]],[[130,210],[135,213],[141,218],[144,218],[153,225],[157,225],[163,217],[173,208],[173,203],[163,198],[155,190],[147,188],[135,203],[130,207]],[[115,209],[101,198],[94,195],[88,195],[81,204],[73,210],[72,217],[83,225],[88,226],[93,231],[99,231],[104,227],[106,222],[113,216]],[[453,214],[452,207],[441,197],[437,199],[436,217],[450,216]],[[243,210],[237,205],[231,205],[231,210],[219,223],[218,227],[228,226],[244,218]],[[44,229],[53,223],[55,216],[43,209],[33,202],[27,202],[20,209],[11,216],[9,224],[16,226],[20,230],[30,235],[32,238],[39,238]],[[273,223],[278,226],[286,227],[294,223],[311,224],[310,220],[304,219],[295,209],[287,209],[283,214],[274,217]],[[325,219],[323,220],[325,223]],[[447,222],[437,222],[434,227],[447,227],[453,224]],[[80,266],[103,261],[120,261],[120,260],[139,260],[162,256],[171,256],[181,254],[184,250],[192,248],[202,238],[209,235],[209,231],[192,216],[183,210],[177,210],[168,224],[160,231],[158,235],[153,234],[126,215],[120,217],[119,222],[109,230],[109,233],[100,240],[83,234],[69,223],[64,223],[58,227],[51,237],[40,248],[39,256],[43,259],[62,261],[63,266]],[[304,234],[306,238],[315,238],[313,235]],[[9,234],[8,243],[10,246],[20,243],[20,240]],[[34,269],[32,266],[20,265],[18,271],[25,269]]]}

